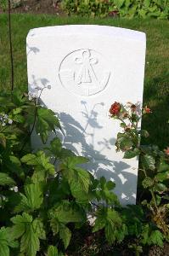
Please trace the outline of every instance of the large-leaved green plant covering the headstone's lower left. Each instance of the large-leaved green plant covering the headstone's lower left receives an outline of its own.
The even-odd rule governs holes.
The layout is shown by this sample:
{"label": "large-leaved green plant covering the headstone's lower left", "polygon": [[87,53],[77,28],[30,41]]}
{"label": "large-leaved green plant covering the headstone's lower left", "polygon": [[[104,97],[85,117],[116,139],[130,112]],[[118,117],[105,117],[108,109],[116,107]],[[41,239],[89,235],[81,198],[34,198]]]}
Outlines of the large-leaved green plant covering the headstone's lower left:
{"label": "large-leaved green plant covering the headstone's lower left", "polygon": [[[97,180],[84,170],[80,165],[87,159],[62,148],[58,137],[45,151],[31,153],[34,128],[42,143],[49,132],[60,129],[54,112],[38,103],[44,88],[35,90],[29,96],[17,90],[0,96],[0,255],[9,255],[9,248],[12,255],[58,255],[57,247],[64,252],[71,230],[82,227],[89,213],[97,217],[94,232],[104,228],[109,242],[122,240],[126,231],[114,208],[119,206],[111,191],[114,183],[104,177]],[[96,211],[93,201],[110,207],[100,203]]]}

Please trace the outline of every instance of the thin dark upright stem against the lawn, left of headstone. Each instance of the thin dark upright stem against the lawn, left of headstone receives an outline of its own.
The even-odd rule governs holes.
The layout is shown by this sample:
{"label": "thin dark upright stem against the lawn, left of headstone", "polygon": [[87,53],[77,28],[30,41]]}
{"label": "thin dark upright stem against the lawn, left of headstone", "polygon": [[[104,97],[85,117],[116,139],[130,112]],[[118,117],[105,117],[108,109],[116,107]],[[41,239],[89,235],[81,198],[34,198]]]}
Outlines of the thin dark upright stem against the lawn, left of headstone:
{"label": "thin dark upright stem against the lawn, left of headstone", "polygon": [[13,58],[13,45],[12,45],[12,31],[11,31],[11,5],[8,0],[8,39],[10,50],[10,66],[11,66],[11,91],[14,90],[14,58]]}

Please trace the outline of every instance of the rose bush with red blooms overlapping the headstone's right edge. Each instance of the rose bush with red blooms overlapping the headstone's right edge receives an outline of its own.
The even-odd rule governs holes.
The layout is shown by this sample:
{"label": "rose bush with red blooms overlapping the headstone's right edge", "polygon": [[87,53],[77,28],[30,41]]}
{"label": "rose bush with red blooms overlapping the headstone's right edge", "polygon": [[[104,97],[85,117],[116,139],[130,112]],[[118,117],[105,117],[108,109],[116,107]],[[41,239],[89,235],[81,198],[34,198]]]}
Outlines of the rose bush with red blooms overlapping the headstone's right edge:
{"label": "rose bush with red blooms overlapping the headstone's right edge", "polygon": [[155,145],[140,144],[141,137],[149,137],[149,132],[141,130],[140,119],[152,113],[147,106],[128,102],[126,106],[114,102],[110,108],[110,117],[121,122],[122,131],[117,134],[116,150],[124,152],[124,158],[130,159],[139,156],[140,168],[144,172],[143,188],[150,194],[149,200],[142,201],[147,207],[150,218],[162,234],[169,240],[169,150],[161,151]]}

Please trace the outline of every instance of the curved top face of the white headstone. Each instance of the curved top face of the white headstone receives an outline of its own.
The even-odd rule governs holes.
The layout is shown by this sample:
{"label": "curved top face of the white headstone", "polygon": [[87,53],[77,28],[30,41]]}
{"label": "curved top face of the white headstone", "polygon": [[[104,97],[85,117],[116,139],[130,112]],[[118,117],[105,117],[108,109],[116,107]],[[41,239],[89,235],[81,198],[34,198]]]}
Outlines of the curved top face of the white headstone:
{"label": "curved top face of the white headstone", "polygon": [[132,40],[145,42],[145,33],[135,30],[115,27],[115,26],[99,26],[99,25],[64,25],[64,26],[45,26],[31,29],[27,38],[35,36],[49,36],[52,34],[82,34],[82,35],[100,35],[117,38],[128,38]]}

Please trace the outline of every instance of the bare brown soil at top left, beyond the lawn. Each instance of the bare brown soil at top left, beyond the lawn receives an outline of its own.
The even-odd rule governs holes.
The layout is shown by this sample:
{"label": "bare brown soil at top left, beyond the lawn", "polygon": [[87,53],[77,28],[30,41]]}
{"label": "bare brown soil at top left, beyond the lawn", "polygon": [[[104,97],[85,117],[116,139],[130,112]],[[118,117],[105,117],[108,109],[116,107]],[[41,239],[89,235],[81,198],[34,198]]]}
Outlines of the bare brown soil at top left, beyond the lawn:
{"label": "bare brown soil at top left, beyond the lawn", "polygon": [[[0,7],[0,13],[4,10]],[[20,6],[13,8],[12,13],[66,15],[57,0],[21,0]]]}

